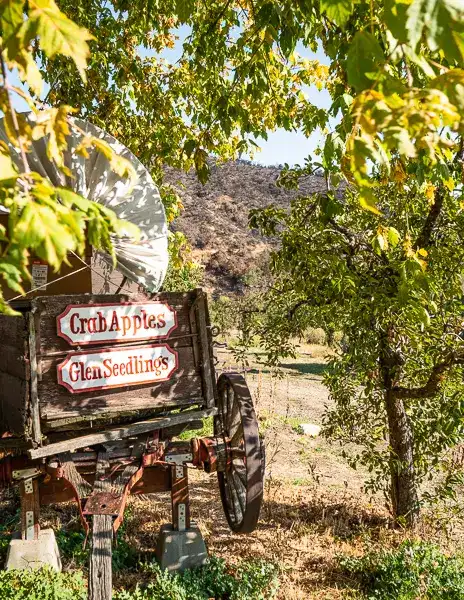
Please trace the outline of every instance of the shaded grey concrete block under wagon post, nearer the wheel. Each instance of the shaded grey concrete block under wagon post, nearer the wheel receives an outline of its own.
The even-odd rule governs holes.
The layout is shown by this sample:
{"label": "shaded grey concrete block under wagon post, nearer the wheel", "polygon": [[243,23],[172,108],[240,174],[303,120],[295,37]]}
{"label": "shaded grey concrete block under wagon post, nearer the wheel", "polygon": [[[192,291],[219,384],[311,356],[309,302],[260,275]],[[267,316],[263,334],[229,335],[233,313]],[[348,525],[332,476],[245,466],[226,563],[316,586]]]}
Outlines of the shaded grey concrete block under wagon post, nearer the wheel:
{"label": "shaded grey concrete block under wagon post, nearer the wheel", "polygon": [[208,560],[203,536],[195,523],[184,531],[162,525],[156,545],[156,558],[163,569],[183,571],[201,567]]}

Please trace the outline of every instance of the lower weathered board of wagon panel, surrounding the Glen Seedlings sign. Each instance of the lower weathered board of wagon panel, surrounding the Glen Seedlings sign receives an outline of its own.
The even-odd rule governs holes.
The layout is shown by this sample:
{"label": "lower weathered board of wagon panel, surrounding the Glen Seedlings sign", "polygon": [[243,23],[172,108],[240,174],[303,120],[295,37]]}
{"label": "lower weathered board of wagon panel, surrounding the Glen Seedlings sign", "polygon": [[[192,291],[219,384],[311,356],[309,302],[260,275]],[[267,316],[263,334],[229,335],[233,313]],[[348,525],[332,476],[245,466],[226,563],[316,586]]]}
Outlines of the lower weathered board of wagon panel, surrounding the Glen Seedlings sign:
{"label": "lower weathered board of wagon panel, surrounding the Glen Seedlings sign", "polygon": [[[134,349],[134,352],[136,350]],[[60,359],[41,363],[39,382],[40,415],[47,421],[76,414],[107,414],[121,410],[141,410],[157,406],[183,404],[183,400],[202,397],[201,377],[193,367],[192,348],[179,348],[179,369],[168,381],[138,386],[111,388],[83,394],[71,394],[59,385],[57,366]]]}

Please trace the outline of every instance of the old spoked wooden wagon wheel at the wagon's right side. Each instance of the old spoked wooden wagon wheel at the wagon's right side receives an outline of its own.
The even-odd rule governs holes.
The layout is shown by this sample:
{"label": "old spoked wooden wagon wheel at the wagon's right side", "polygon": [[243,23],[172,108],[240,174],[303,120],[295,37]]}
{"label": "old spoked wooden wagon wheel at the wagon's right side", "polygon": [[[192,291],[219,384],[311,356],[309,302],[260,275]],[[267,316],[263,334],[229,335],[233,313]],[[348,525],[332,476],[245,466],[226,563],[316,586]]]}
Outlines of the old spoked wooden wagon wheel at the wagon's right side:
{"label": "old spoked wooden wagon wheel at the wagon's right side", "polygon": [[218,379],[215,435],[226,442],[226,464],[218,471],[222,505],[232,531],[256,527],[263,499],[264,457],[253,401],[242,375],[223,373]]}

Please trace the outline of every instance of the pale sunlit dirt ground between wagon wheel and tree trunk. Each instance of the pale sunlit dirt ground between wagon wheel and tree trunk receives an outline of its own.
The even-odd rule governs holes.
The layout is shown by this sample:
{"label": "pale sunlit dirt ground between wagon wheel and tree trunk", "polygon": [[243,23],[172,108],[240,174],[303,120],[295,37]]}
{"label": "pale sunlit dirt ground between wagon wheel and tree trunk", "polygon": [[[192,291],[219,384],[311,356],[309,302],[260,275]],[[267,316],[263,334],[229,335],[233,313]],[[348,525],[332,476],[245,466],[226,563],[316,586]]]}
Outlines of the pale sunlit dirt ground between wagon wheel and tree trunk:
{"label": "pale sunlit dirt ground between wagon wheel and tree trunk", "polygon": [[[289,483],[323,483],[359,493],[363,471],[348,465],[340,446],[321,435],[302,435],[299,427],[302,423],[322,425],[325,408],[331,405],[322,381],[326,353],[323,347],[303,346],[297,359],[284,362],[280,378],[257,363],[245,373],[266,442],[266,473]],[[226,370],[237,368],[226,350],[218,353],[218,359]]]}

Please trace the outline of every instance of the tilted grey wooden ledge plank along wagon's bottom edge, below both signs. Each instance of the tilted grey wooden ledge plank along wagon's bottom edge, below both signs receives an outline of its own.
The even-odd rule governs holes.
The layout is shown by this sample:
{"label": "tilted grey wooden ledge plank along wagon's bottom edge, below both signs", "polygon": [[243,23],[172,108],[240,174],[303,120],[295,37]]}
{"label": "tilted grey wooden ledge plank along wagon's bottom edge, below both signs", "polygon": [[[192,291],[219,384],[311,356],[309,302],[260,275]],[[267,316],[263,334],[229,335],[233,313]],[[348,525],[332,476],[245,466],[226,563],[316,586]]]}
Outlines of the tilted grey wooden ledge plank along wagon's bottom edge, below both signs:
{"label": "tilted grey wooden ledge plank along wagon's bottom edge, below both signs", "polygon": [[32,460],[36,460],[38,458],[45,458],[46,456],[52,456],[71,450],[77,450],[78,448],[87,448],[96,444],[103,444],[105,442],[122,440],[127,437],[140,435],[142,433],[149,433],[157,429],[172,427],[181,423],[190,423],[192,421],[197,421],[198,419],[204,419],[206,417],[214,416],[216,413],[216,408],[208,408],[206,410],[192,410],[185,413],[170,415],[168,417],[151,419],[150,421],[133,423],[132,425],[127,425],[126,427],[119,427],[118,429],[109,429],[100,433],[85,435],[71,440],[65,440],[63,442],[56,442],[55,444],[49,444],[48,446],[43,446],[42,448],[35,448],[29,450],[28,454]]}

